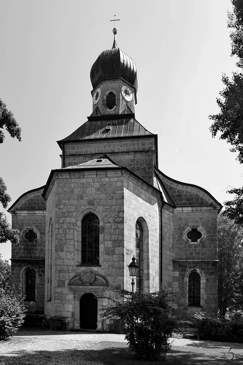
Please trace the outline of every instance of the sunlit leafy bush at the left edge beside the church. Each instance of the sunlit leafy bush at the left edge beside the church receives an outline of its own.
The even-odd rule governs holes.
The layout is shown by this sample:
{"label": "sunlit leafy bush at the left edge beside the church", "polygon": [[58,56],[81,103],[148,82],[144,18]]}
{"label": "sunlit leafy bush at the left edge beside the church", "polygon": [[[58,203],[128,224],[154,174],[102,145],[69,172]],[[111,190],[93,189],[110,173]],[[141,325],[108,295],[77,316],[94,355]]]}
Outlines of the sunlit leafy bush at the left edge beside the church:
{"label": "sunlit leafy bush at the left edge beside the church", "polygon": [[20,294],[0,288],[0,340],[8,340],[24,322],[26,308]]}

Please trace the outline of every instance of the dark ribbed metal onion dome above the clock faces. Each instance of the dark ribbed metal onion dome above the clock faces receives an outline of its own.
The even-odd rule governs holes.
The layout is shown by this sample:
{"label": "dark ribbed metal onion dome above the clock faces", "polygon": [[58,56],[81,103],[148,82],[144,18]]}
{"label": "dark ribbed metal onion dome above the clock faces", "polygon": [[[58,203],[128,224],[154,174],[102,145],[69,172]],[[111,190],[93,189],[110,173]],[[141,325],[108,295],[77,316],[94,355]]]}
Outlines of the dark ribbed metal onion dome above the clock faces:
{"label": "dark ribbed metal onion dome above the clock faces", "polygon": [[[115,29],[115,28],[114,28]],[[109,78],[123,78],[132,85],[137,92],[137,68],[131,57],[117,48],[114,39],[113,48],[101,52],[90,71],[93,88],[101,80]]]}

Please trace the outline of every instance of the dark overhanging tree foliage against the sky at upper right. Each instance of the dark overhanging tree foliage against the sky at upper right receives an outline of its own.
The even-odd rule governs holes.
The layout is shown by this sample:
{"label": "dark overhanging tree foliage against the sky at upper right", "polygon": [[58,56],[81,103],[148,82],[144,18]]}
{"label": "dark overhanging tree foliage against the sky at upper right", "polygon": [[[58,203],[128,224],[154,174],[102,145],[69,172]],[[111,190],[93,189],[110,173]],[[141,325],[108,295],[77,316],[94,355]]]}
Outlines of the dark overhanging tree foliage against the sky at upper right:
{"label": "dark overhanging tree foliage against the sky at upper right", "polygon": [[[222,81],[225,89],[219,93],[222,97],[217,98],[220,112],[210,115],[213,120],[210,127],[213,138],[217,132],[221,132],[220,139],[230,143],[230,151],[238,152],[236,160],[243,163],[243,1],[231,0],[233,12],[228,12],[228,28],[233,29],[230,33],[231,56],[236,55],[236,65],[239,72],[233,72],[232,79],[223,74]],[[233,200],[226,201],[224,214],[236,223],[243,224],[243,187],[233,188],[227,191],[235,194]]]}

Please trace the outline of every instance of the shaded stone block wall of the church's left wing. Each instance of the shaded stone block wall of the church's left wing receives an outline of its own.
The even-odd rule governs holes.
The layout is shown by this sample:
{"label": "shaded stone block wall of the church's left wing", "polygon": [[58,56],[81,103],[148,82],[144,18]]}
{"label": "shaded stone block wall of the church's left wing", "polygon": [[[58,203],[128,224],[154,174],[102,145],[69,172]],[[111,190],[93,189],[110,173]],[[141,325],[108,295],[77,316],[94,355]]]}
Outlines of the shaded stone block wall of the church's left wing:
{"label": "shaded stone block wall of the church's left wing", "polygon": [[[12,228],[20,231],[19,244],[12,244],[11,284],[25,295],[26,269],[35,270],[36,300],[32,304],[29,303],[29,311],[34,313],[44,312],[46,201],[41,196],[42,192],[43,187],[27,192],[9,208]],[[34,242],[26,239],[28,230],[37,234]]]}

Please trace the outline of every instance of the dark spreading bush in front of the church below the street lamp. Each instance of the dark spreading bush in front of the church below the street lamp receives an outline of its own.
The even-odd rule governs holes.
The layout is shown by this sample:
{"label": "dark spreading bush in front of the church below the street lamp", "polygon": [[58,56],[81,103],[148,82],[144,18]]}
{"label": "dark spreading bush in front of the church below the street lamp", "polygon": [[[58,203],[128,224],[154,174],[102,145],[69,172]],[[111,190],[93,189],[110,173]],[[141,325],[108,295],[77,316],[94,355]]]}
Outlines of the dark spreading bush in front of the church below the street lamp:
{"label": "dark spreading bush in front of the church below the street lamp", "polygon": [[[158,360],[165,357],[171,345],[169,337],[176,327],[172,316],[175,314],[170,303],[171,293],[162,289],[148,294],[119,292],[124,303],[113,300],[114,307],[105,307],[103,317],[117,318],[124,323],[125,339],[138,358]],[[109,298],[107,298],[109,299]]]}

